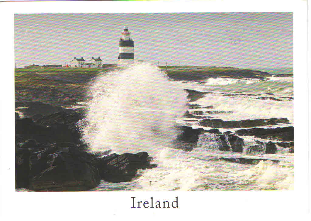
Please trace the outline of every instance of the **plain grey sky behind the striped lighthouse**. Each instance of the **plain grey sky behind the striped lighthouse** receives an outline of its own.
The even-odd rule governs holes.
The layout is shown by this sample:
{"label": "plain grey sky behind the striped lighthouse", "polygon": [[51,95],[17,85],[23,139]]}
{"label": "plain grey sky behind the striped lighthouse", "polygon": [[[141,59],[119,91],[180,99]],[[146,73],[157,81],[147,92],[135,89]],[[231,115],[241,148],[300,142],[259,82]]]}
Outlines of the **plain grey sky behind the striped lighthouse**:
{"label": "plain grey sky behind the striped lighthouse", "polygon": [[93,56],[116,63],[124,25],[136,60],[293,67],[292,12],[17,14],[14,20],[17,67]]}

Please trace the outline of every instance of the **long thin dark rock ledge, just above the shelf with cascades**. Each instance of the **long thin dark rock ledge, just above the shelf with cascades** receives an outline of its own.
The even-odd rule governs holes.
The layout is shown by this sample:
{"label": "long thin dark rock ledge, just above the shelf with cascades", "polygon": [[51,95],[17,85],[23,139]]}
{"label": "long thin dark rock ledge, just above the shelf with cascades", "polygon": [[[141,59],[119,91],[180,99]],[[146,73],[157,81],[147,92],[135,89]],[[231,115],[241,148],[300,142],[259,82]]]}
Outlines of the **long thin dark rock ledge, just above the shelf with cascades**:
{"label": "long thin dark rock ledge, just above the shelf with cascades", "polygon": [[287,120],[286,118],[239,120],[239,121],[235,121],[235,120],[223,121],[221,119],[200,120],[200,125],[204,127],[213,127],[213,128],[243,128],[243,127],[256,127],[256,126],[265,126],[265,125],[277,125],[279,123],[288,124],[289,120]]}

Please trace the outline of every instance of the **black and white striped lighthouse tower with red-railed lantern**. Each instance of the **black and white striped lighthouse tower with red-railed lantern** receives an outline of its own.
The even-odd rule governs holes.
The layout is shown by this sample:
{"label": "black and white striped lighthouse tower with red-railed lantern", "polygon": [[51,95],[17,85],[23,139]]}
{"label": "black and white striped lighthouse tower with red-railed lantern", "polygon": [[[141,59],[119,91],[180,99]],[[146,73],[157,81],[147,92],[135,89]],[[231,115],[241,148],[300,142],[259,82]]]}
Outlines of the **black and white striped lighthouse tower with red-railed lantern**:
{"label": "black and white striped lighthouse tower with red-railed lantern", "polygon": [[131,32],[124,26],[122,38],[119,41],[118,66],[127,66],[134,63],[134,41],[130,38]]}

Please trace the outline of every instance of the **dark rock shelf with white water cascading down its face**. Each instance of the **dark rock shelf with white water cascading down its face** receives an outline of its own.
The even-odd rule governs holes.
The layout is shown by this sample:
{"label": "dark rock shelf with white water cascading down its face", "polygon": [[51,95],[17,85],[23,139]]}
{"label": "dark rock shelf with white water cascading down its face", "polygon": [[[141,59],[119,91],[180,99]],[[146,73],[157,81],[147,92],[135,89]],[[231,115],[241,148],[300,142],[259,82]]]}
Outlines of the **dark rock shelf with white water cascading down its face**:
{"label": "dark rock shelf with white water cascading down its face", "polygon": [[[293,127],[276,128],[276,129],[263,129],[263,128],[252,128],[249,131],[261,132],[261,135],[267,138],[275,138],[272,141],[260,141],[254,139],[251,141],[245,140],[242,134],[246,134],[244,129],[237,130],[235,133],[226,131],[221,133],[218,129],[204,130],[202,128],[193,129],[188,126],[177,127],[180,131],[180,135],[173,142],[174,148],[183,149],[184,151],[192,151],[193,148],[202,147],[207,151],[231,151],[233,153],[245,153],[249,155],[256,154],[274,154],[281,148],[284,152],[294,153],[294,142],[283,141],[283,136],[286,139],[294,139]],[[240,132],[244,133],[240,133]],[[287,135],[281,131],[287,131]],[[241,137],[240,137],[241,136]],[[259,136],[259,134],[257,134]],[[281,140],[282,142],[280,142]]]}

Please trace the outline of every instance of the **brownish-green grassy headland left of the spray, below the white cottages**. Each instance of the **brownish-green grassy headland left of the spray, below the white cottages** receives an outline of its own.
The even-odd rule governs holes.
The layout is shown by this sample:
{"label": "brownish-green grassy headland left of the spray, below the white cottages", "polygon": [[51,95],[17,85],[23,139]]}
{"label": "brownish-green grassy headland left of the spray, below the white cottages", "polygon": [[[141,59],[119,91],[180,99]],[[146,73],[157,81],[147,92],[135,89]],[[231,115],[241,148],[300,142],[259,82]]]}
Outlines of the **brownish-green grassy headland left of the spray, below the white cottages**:
{"label": "brownish-green grassy headland left of the spray, below the white cottages", "polygon": [[15,101],[66,106],[85,101],[90,81],[114,68],[16,68]]}

